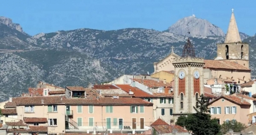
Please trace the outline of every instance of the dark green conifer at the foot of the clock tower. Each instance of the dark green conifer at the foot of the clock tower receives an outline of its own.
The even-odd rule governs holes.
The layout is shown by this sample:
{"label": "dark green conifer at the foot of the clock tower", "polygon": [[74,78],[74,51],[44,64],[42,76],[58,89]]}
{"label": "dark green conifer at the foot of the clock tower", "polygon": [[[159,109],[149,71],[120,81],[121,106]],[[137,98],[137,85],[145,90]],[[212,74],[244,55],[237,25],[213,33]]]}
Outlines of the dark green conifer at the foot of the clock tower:
{"label": "dark green conifer at the foot of the clock tower", "polygon": [[194,134],[220,134],[220,125],[217,119],[211,119],[209,106],[209,98],[204,95],[200,95],[198,104],[193,106],[197,113],[188,114],[187,117],[180,116],[177,119],[177,125],[186,127],[188,131],[192,131]]}

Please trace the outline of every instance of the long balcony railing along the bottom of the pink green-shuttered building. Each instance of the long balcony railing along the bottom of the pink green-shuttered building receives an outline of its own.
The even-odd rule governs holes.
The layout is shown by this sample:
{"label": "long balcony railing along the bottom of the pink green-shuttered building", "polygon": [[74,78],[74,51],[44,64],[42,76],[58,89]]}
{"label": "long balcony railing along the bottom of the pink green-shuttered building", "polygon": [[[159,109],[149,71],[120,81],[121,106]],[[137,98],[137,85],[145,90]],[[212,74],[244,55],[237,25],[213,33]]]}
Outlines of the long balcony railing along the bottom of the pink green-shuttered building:
{"label": "long balcony railing along the bottom of the pink green-shuttered building", "polygon": [[[132,123],[132,122],[98,122],[98,123],[77,123],[78,129],[86,129],[86,130],[103,130],[103,129],[149,129],[150,124],[152,122],[144,122],[144,123]],[[72,129],[72,128],[70,128]]]}

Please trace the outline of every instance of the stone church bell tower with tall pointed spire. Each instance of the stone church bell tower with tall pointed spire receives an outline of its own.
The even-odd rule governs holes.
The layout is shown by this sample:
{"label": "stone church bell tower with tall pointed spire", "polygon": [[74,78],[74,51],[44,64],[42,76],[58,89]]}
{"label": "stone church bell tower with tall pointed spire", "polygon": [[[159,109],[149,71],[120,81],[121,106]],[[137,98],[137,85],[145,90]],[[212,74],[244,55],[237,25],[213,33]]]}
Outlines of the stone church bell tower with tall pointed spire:
{"label": "stone church bell tower with tall pointed spire", "polygon": [[237,22],[235,21],[234,9],[232,9],[225,41],[223,44],[217,44],[217,57],[215,60],[237,62],[249,68],[249,44],[242,43]]}

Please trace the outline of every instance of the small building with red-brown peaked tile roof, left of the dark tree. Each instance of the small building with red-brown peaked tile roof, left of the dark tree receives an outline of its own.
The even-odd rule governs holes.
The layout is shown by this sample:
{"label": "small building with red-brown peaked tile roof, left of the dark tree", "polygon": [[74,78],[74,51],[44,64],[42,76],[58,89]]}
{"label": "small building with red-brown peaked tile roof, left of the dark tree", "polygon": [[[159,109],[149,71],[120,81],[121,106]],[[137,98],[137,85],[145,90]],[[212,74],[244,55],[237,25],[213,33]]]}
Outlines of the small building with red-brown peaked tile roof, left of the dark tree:
{"label": "small building with red-brown peaked tile roof, left of the dark tree", "polygon": [[152,134],[155,135],[189,135],[189,131],[183,127],[175,124],[167,124],[162,119],[157,119],[154,123],[150,125],[152,127]]}

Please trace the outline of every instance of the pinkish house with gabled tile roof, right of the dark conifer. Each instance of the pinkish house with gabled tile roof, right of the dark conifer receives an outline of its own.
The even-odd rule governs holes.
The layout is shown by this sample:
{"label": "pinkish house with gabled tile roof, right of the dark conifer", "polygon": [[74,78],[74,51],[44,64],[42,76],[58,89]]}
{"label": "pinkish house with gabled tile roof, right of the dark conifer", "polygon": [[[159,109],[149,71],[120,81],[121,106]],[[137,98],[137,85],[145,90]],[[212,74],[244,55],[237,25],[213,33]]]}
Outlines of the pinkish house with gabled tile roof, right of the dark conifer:
{"label": "pinkish house with gabled tile roof, right of the dark conifer", "polygon": [[250,113],[251,104],[245,101],[244,98],[236,95],[222,95],[211,103],[210,114],[212,118],[219,119],[219,124],[233,119],[248,124],[247,114]]}

